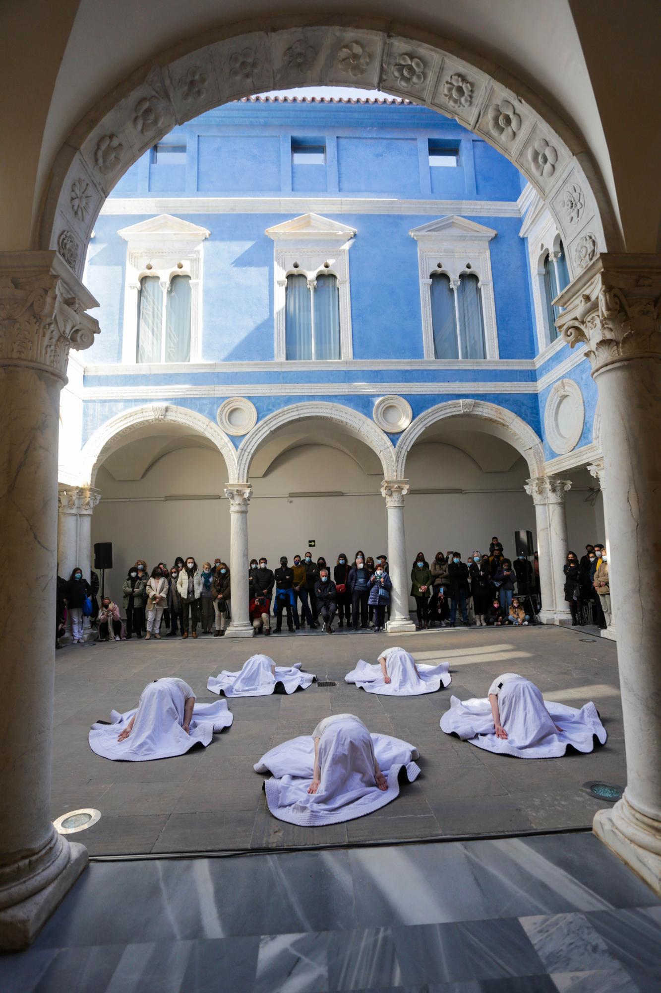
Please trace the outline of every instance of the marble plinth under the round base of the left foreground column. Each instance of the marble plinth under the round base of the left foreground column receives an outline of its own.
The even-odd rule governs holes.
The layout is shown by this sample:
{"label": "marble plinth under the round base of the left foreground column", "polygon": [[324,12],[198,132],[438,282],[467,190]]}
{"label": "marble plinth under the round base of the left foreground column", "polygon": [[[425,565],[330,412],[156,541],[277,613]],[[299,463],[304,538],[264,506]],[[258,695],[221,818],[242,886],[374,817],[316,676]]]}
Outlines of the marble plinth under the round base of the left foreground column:
{"label": "marble plinth under the round base of the left foreground column", "polygon": [[[0,911],[0,951],[22,951],[64,900],[80,873],[87,868],[87,849],[76,841],[64,842],[66,863],[43,890]],[[67,856],[67,857],[66,857]]]}

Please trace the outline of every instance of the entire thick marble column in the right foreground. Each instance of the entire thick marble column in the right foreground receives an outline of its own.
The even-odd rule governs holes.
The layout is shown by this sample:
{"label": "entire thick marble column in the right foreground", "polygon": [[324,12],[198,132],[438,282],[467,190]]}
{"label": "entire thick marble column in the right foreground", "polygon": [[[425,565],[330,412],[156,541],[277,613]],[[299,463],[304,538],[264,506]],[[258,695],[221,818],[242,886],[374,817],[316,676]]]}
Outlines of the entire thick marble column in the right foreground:
{"label": "entire thick marble column in the right foreground", "polygon": [[661,255],[601,254],[558,297],[599,409],[626,788],[595,834],[661,893]]}

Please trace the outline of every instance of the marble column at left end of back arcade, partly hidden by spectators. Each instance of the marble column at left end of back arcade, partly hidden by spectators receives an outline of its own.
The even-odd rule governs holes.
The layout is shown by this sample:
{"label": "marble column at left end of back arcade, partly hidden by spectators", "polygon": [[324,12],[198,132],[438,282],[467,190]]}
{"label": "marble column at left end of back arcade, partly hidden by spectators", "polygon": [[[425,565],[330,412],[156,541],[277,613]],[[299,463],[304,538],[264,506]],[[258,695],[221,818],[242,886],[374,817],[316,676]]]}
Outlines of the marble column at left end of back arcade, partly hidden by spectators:
{"label": "marble column at left end of back arcade, partly hidden by spectators", "polygon": [[[58,575],[68,579],[75,566],[89,582],[91,574],[91,515],[101,495],[92,487],[61,486],[58,521]],[[66,638],[70,640],[70,621],[66,623]],[[83,619],[82,637],[94,638],[89,618]]]}

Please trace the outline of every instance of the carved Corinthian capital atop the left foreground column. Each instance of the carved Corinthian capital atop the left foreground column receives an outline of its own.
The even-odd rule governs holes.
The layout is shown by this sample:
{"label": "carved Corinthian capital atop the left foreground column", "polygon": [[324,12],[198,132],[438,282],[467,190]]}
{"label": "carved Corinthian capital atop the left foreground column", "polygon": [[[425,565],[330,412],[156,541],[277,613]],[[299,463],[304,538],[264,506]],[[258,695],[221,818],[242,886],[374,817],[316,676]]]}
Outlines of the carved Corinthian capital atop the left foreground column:
{"label": "carved Corinthian capital atop the left foreground column", "polygon": [[98,303],[55,251],[0,252],[0,365],[66,379],[69,349],[88,349]]}

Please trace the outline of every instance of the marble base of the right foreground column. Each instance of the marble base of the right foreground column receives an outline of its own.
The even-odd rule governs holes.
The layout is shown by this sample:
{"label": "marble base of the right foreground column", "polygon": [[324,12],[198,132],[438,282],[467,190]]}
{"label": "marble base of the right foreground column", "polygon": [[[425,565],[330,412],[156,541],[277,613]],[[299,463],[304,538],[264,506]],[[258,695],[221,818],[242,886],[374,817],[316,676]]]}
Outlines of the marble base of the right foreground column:
{"label": "marble base of the right foreground column", "polygon": [[661,822],[633,809],[626,793],[611,810],[597,810],[596,837],[661,896]]}

